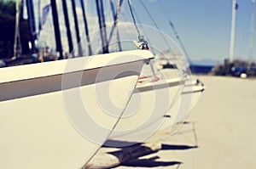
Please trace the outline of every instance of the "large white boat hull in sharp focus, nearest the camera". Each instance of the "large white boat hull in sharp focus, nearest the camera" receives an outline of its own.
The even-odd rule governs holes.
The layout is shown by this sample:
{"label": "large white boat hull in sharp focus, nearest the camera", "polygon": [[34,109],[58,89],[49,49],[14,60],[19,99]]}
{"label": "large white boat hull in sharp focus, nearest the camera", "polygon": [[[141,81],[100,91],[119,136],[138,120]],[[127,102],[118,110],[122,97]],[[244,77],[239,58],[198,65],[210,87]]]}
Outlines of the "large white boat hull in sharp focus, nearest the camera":
{"label": "large white boat hull in sharp focus, nearest the camera", "polygon": [[0,69],[0,168],[80,168],[106,141],[148,51]]}

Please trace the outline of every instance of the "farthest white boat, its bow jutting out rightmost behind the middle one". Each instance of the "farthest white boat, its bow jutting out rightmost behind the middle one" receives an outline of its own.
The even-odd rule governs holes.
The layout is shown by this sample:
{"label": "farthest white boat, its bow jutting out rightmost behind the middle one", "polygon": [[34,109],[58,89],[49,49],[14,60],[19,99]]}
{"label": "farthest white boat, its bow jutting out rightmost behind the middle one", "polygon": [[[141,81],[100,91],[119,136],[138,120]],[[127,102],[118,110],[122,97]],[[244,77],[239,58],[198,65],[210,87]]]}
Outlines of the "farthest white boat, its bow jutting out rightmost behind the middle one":
{"label": "farthest white boat, its bow jutting out rightmost behind the middle one", "polygon": [[[166,120],[158,130],[158,133],[175,133],[179,129],[183,122],[186,120],[189,112],[195,107],[195,104],[201,98],[201,94],[206,89],[204,84],[199,79],[194,79],[189,71],[188,65],[183,60],[173,63],[170,60],[163,59],[162,56],[156,57],[158,66],[161,72],[168,74],[170,70],[182,70],[184,77],[184,85],[182,87],[181,95],[177,99],[177,102],[172,106],[172,109],[166,113]],[[171,59],[172,60],[172,59]],[[177,112],[173,116],[173,112]]]}

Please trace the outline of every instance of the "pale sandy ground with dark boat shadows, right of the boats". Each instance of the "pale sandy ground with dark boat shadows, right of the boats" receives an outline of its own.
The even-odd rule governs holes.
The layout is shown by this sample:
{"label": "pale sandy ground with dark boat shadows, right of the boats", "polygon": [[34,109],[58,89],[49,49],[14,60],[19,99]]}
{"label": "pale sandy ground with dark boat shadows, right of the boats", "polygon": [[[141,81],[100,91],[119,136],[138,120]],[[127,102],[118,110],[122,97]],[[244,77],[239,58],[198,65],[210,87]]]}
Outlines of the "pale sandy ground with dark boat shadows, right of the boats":
{"label": "pale sandy ground with dark boat shadows, right of the boats", "polygon": [[128,161],[117,169],[256,167],[256,80],[221,76],[200,79],[207,90],[183,128],[173,136],[161,136],[162,149],[157,153]]}

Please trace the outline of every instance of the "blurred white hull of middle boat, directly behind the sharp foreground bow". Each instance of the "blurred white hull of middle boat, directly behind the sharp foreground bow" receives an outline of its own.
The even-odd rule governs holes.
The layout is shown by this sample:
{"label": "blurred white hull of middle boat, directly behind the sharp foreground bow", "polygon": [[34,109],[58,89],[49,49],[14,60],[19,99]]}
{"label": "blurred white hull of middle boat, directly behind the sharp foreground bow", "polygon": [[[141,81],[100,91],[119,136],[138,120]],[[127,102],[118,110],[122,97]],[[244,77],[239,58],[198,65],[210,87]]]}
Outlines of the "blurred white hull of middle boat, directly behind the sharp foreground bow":
{"label": "blurred white hull of middle boat, directly behind the sharp foreground bow", "polygon": [[166,113],[181,93],[183,81],[177,76],[176,70],[169,70],[168,74],[159,72],[156,76],[159,78],[156,82],[152,82],[152,78],[146,82],[145,76],[140,77],[139,82],[142,83],[137,84],[107,146],[128,146],[134,142],[143,142],[163,124]]}

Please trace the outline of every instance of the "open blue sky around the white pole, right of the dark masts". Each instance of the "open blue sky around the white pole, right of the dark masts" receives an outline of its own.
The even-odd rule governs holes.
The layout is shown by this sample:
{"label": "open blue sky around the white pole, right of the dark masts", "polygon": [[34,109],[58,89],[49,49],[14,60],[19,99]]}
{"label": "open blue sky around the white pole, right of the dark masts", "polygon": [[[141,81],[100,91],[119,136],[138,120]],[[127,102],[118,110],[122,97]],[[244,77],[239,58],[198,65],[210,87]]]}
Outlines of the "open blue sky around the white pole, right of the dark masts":
{"label": "open blue sky around the white pole, right of the dark masts", "polygon": [[[191,59],[222,61],[229,57],[232,0],[144,0],[143,2],[151,11],[160,29],[176,40],[160,3],[164,5]],[[251,0],[237,0],[237,3],[239,8],[236,10],[234,57],[249,59],[252,3]],[[153,25],[139,2],[133,1],[133,6],[141,16],[140,20],[143,20],[143,24]],[[254,46],[256,47],[255,41]],[[255,52],[253,48],[253,54],[256,54]],[[254,56],[253,59],[256,57]]]}

